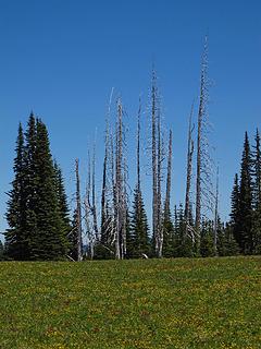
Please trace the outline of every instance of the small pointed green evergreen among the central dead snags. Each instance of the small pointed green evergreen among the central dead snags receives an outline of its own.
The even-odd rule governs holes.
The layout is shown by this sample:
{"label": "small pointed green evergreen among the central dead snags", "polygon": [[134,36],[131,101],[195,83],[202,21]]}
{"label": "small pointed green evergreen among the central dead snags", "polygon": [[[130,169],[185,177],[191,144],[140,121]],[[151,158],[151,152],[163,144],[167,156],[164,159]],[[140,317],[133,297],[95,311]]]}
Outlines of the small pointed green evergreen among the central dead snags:
{"label": "small pointed green evergreen among the central dead snags", "polygon": [[151,253],[147,215],[145,212],[142,195],[138,188],[134,191],[128,240],[129,242],[132,241],[129,256],[141,257],[142,253],[147,255]]}

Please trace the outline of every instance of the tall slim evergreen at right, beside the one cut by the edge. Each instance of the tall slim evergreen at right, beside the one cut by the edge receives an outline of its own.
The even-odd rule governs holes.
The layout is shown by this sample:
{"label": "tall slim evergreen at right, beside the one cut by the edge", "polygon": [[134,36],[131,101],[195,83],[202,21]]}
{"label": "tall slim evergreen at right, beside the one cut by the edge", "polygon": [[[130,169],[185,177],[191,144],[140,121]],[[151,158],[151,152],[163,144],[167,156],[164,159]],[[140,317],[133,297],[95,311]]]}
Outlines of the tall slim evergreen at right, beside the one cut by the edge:
{"label": "tall slim evergreen at right, beside the one cut by the edge", "polygon": [[251,165],[250,145],[246,132],[239,185],[238,232],[235,234],[240,252],[245,254],[251,254],[253,251]]}

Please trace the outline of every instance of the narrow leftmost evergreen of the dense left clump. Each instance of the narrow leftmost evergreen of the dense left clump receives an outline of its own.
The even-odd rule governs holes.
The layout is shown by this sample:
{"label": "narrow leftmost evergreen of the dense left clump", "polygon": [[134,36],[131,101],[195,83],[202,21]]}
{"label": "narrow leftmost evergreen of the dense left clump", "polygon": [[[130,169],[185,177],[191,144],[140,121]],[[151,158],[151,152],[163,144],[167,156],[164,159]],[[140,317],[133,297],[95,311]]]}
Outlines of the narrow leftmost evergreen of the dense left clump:
{"label": "narrow leftmost evergreen of the dense left clump", "polygon": [[25,180],[25,154],[23,128],[18,125],[18,136],[16,141],[14,159],[14,180],[12,189],[9,191],[7,220],[9,229],[5,232],[7,254],[14,260],[27,258],[26,241],[26,196],[24,191]]}

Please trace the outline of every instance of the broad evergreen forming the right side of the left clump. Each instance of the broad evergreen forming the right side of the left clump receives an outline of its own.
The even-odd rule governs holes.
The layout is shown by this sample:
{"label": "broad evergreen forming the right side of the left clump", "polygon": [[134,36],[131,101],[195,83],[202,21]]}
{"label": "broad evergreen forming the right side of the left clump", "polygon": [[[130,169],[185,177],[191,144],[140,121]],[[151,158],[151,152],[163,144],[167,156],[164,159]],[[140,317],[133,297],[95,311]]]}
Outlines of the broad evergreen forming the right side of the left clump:
{"label": "broad evergreen forming the right side of the left clump", "polygon": [[41,120],[36,122],[34,166],[37,198],[34,214],[37,229],[29,240],[30,258],[58,260],[66,254],[67,239],[59,207],[48,132]]}

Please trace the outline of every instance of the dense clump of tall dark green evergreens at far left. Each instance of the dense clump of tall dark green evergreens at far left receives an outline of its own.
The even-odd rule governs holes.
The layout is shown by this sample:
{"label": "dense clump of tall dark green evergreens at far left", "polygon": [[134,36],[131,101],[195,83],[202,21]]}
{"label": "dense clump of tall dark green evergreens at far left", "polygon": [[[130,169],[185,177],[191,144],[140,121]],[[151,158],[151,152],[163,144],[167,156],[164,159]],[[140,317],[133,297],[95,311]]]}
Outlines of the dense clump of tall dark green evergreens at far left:
{"label": "dense clump of tall dark green evergreens at far left", "polygon": [[58,260],[66,254],[69,212],[61,170],[54,169],[41,120],[20,125],[14,181],[9,192],[7,254],[14,260]]}

